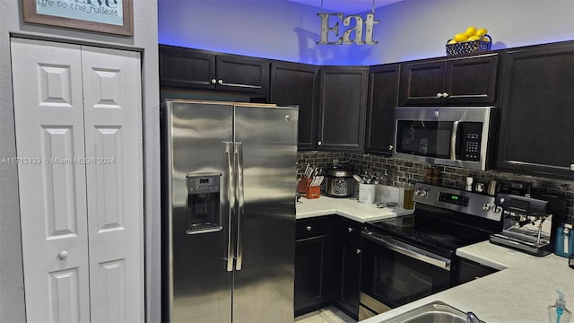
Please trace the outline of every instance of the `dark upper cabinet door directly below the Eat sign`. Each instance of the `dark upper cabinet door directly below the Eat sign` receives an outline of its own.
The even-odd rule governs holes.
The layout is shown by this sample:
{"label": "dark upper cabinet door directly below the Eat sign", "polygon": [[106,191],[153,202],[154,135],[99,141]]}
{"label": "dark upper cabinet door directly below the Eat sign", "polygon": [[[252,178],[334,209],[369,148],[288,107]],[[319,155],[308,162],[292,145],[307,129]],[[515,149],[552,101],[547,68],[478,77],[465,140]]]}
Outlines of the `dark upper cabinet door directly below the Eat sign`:
{"label": "dark upper cabinet door directly below the Eat sign", "polygon": [[320,149],[362,151],[368,79],[367,67],[321,67]]}

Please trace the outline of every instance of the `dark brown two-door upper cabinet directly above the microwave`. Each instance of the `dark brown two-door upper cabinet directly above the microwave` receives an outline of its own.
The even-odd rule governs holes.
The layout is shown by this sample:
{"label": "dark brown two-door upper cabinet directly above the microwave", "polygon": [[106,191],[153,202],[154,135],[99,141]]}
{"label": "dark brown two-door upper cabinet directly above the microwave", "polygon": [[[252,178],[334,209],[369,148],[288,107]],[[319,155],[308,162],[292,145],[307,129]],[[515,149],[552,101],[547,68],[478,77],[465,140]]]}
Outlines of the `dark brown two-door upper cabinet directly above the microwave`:
{"label": "dark brown two-door upper cabinet directly above the microwave", "polygon": [[498,65],[496,53],[405,63],[399,105],[494,103]]}

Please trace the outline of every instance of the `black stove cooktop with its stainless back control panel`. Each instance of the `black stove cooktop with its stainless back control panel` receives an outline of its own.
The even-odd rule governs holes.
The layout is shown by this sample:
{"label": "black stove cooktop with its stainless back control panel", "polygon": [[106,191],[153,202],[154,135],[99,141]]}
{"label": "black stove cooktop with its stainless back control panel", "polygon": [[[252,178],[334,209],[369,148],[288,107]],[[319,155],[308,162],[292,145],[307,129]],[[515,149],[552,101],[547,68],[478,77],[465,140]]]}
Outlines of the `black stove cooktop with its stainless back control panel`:
{"label": "black stove cooktop with its stainless back control panel", "polygon": [[413,214],[370,221],[365,226],[448,255],[458,248],[489,240],[492,232],[501,230],[501,214],[493,196],[417,183],[413,200]]}

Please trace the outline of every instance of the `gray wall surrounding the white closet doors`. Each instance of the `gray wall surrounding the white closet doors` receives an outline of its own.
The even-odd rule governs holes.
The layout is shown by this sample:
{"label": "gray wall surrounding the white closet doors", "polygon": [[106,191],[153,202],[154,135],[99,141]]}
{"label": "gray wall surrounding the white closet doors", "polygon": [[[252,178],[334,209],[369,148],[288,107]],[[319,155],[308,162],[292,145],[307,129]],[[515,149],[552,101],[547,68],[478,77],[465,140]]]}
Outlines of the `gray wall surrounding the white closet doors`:
{"label": "gray wall surrounding the white closet doors", "polygon": [[[11,33],[142,50],[146,314],[161,321],[159,84],[157,2],[135,0],[134,37],[66,30],[22,22],[22,1],[0,0],[0,161],[16,156],[13,125]],[[20,210],[16,165],[0,163],[0,322],[25,320]],[[156,260],[157,259],[157,260]]]}

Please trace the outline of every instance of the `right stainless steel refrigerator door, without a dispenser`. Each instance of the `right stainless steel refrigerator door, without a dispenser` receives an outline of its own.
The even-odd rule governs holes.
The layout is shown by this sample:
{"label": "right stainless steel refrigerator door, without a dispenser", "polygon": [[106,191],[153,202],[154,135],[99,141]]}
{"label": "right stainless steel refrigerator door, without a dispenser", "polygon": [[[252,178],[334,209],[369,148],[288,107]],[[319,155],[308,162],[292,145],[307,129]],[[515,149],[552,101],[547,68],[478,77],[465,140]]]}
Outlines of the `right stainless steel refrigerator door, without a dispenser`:
{"label": "right stainless steel refrigerator door, without a dispenser", "polygon": [[293,322],[298,109],[235,107],[233,322]]}

